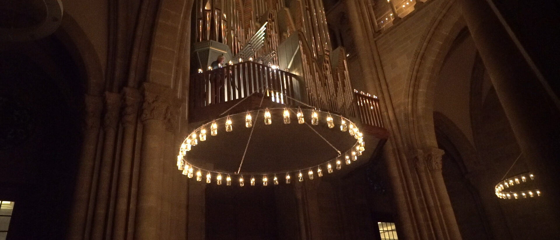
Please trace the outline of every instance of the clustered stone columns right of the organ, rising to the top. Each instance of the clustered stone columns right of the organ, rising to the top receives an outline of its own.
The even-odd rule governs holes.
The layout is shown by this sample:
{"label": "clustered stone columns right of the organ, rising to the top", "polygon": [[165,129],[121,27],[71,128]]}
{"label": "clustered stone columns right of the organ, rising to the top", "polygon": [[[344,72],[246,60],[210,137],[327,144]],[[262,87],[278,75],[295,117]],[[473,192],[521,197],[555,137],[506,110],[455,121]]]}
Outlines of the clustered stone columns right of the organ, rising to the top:
{"label": "clustered stone columns right of the organ, rising to the top", "polygon": [[[363,0],[346,0],[348,12],[358,12],[358,7],[365,6]],[[396,9],[391,4],[396,19]],[[393,102],[381,67],[379,52],[374,40],[374,31],[368,25],[368,19],[350,15],[354,41],[358,49],[358,58],[365,76],[368,92],[380,95],[381,107],[386,110],[384,122],[391,132],[385,145],[384,159],[388,165],[391,186],[394,189],[395,205],[398,211],[398,229],[407,239],[461,239],[449,196],[441,176],[441,150],[430,149],[426,154],[413,157],[412,164],[406,155],[408,150],[400,139],[400,130],[396,127]],[[371,67],[373,58],[374,68]],[[439,157],[437,155],[439,154]]]}

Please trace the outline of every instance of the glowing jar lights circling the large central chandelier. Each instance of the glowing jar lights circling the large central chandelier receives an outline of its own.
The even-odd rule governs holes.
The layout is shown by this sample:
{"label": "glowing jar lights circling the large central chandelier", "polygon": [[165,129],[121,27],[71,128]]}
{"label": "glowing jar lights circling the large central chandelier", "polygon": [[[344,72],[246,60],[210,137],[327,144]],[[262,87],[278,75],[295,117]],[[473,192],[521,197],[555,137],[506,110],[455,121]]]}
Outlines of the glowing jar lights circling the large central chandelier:
{"label": "glowing jar lights circling the large central chandelier", "polygon": [[[356,161],[358,159],[358,156],[361,156],[362,152],[365,151],[365,147],[364,147],[365,142],[363,141],[363,135],[360,132],[360,129],[358,129],[356,124],[354,124],[352,121],[342,116],[339,116],[338,114],[324,112],[319,109],[304,109],[304,110],[306,112],[308,111],[311,112],[309,116],[311,120],[310,121],[311,126],[317,126],[319,124],[320,114],[326,116],[325,117],[326,125],[330,129],[335,128],[335,121],[336,121],[337,122],[336,124],[339,124],[340,131],[348,132],[351,136],[353,136],[357,140],[356,143],[354,143],[354,146],[349,150],[347,150],[346,152],[341,153],[333,145],[331,145],[328,141],[326,141],[324,137],[321,136],[321,138],[323,138],[324,141],[326,141],[331,147],[333,147],[338,152],[337,157],[335,157],[334,159],[330,159],[326,162],[323,162],[323,164],[306,167],[305,169],[298,169],[294,171],[262,172],[257,174],[251,174],[249,179],[251,186],[254,186],[256,183],[255,175],[262,177],[261,178],[262,184],[264,186],[267,186],[269,184],[269,180],[270,180],[269,176],[272,177],[272,183],[274,185],[279,184],[278,177],[283,177],[285,179],[286,184],[291,183],[292,176],[297,176],[297,180],[300,182],[304,181],[305,172],[307,172],[307,178],[309,178],[310,180],[314,179],[315,174],[319,177],[322,177],[323,169],[326,169],[326,172],[328,172],[329,174],[332,173],[334,169],[340,170],[342,169],[343,162],[346,165],[352,164],[352,162]],[[263,112],[262,116],[264,118],[263,120],[264,124],[265,125],[272,124],[273,114],[270,113],[271,111],[282,111],[282,118],[283,118],[282,121],[284,124],[291,124],[291,114],[293,113],[295,113],[297,117],[298,124],[307,123],[304,116],[304,111],[302,111],[301,108],[288,108],[288,107],[265,108],[264,110],[259,109],[254,111],[247,111],[246,113],[237,113],[237,114],[245,114],[245,127],[251,128],[254,126],[255,122],[257,121],[258,114],[260,112]],[[195,177],[197,181],[202,181],[203,174],[206,174],[206,183],[212,183],[212,181],[216,181],[216,184],[218,185],[221,185],[222,179],[225,178],[227,186],[230,186],[232,184],[232,179],[235,177],[239,181],[240,186],[245,185],[245,177],[243,174],[241,174],[242,161],[239,170],[237,172],[224,172],[224,171],[207,170],[199,166],[194,166],[186,159],[186,152],[192,150],[194,146],[197,146],[199,144],[199,141],[200,142],[207,141],[208,139],[207,126],[209,126],[210,136],[218,135],[217,122],[224,122],[224,126],[222,129],[225,129],[226,132],[232,132],[233,131],[232,118],[237,114],[214,119],[211,122],[203,124],[197,129],[194,129],[194,131],[191,132],[189,136],[185,138],[185,140],[181,143],[179,155],[177,156],[177,167],[180,171],[182,171],[183,175],[186,175],[189,178]],[[225,121],[220,121],[223,120],[224,118]],[[251,134],[253,130],[254,129],[251,129]],[[318,132],[315,131],[315,133],[317,133],[320,136]],[[249,140],[248,140],[248,144],[249,144]]]}

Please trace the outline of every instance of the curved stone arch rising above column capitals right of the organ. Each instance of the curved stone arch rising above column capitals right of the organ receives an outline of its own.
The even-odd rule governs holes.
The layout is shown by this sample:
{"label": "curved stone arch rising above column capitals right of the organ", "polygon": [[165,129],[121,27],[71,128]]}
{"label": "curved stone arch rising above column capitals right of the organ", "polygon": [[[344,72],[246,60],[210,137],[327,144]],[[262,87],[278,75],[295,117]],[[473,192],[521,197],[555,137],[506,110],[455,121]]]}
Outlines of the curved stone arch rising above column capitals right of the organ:
{"label": "curved stone arch rising above column capitals right of the organ", "polygon": [[407,141],[416,149],[437,147],[433,126],[433,94],[445,56],[460,31],[466,27],[456,1],[445,4],[419,44],[405,86],[403,116]]}

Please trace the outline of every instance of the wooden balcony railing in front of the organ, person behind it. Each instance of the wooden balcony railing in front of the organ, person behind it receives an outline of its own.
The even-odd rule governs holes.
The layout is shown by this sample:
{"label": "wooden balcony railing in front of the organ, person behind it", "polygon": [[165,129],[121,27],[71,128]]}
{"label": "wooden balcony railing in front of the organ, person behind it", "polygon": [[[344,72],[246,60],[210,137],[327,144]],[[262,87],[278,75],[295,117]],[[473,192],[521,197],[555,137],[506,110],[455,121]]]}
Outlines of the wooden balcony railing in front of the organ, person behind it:
{"label": "wooden balcony railing in front of the organ, person behind it", "polygon": [[[194,74],[190,79],[190,107],[200,108],[265,93],[273,102],[295,105],[300,99],[296,75],[267,65],[245,61]],[[290,97],[290,98],[288,98]]]}

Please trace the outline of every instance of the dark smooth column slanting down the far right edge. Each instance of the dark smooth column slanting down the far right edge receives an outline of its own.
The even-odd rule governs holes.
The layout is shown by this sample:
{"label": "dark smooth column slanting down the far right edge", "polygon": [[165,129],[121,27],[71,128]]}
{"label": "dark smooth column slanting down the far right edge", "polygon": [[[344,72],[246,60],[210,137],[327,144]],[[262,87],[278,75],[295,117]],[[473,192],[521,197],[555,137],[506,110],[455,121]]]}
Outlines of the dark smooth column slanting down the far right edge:
{"label": "dark smooth column slanting down the far right edge", "polygon": [[535,173],[543,208],[560,229],[560,103],[547,83],[557,79],[544,79],[492,1],[458,2],[529,170]]}

